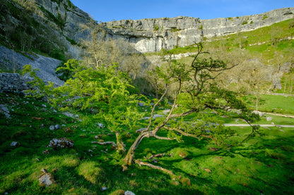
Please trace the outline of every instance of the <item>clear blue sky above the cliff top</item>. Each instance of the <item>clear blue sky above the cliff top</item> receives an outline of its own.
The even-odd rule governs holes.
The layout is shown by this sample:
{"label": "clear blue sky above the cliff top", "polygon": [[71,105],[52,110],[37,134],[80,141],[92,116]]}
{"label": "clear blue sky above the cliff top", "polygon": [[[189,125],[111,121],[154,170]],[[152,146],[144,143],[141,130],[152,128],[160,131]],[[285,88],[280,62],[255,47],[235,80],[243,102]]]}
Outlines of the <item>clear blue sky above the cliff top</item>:
{"label": "clear blue sky above the cliff top", "polygon": [[71,0],[98,22],[172,18],[228,18],[293,7],[294,0]]}

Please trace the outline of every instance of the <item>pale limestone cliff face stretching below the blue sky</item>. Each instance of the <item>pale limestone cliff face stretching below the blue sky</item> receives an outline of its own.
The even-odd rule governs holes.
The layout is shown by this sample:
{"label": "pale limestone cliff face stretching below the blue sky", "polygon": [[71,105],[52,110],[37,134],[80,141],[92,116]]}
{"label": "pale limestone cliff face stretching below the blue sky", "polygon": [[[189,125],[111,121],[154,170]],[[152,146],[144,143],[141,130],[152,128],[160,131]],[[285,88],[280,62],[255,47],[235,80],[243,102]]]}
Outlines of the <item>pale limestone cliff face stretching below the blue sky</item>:
{"label": "pale limestone cliff face stretching below the blue sky", "polygon": [[255,30],[293,18],[294,8],[281,8],[258,15],[200,20],[199,18],[155,18],[102,23],[112,39],[125,39],[141,52],[189,46],[204,37]]}

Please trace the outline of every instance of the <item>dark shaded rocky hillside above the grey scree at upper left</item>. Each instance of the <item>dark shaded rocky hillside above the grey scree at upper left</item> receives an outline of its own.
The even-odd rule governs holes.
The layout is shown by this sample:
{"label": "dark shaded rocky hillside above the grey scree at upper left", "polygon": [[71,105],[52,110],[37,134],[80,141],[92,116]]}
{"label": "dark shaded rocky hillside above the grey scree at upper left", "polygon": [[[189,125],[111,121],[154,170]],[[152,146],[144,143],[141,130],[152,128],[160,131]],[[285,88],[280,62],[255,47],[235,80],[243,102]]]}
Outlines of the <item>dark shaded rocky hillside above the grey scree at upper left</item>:
{"label": "dark shaded rocky hillside above the grey scree at upper left", "polygon": [[0,44],[18,52],[35,52],[59,60],[78,58],[77,42],[88,32],[90,16],[71,1],[1,0]]}

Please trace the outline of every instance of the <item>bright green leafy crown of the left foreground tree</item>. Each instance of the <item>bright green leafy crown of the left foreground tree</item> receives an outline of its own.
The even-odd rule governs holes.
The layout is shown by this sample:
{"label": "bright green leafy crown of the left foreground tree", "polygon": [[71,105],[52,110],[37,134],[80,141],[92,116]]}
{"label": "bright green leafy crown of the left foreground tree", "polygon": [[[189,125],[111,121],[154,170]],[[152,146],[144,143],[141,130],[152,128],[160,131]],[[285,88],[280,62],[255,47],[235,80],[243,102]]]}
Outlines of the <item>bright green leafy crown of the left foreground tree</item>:
{"label": "bright green leafy crown of the left foreground tree", "polygon": [[136,95],[129,93],[129,77],[117,70],[117,65],[89,68],[81,61],[69,60],[66,67],[60,67],[68,78],[64,86],[54,89],[55,105],[76,110],[95,110],[93,118],[112,132],[136,124]]}

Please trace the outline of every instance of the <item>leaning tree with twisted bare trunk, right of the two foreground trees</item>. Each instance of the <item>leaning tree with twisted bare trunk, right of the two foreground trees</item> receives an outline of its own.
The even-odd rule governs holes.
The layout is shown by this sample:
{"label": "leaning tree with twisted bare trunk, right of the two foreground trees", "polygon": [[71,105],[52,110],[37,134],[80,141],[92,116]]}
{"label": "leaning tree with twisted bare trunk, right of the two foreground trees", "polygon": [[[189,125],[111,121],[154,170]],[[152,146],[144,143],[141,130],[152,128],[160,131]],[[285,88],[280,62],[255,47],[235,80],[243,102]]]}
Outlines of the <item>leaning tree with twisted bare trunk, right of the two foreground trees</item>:
{"label": "leaning tree with twisted bare trunk, right of the two foreground trees", "polygon": [[[237,108],[242,111],[240,118],[245,118],[248,122],[254,117],[254,115],[249,113],[245,104],[237,99],[237,94],[216,87],[216,77],[223,70],[233,68],[235,65],[228,67],[223,61],[213,60],[212,58],[201,58],[207,52],[203,51],[202,44],[196,45],[198,46],[198,52],[193,56],[194,60],[191,65],[170,60],[166,68],[161,67],[161,70],[158,71],[158,77],[165,82],[165,92],[154,104],[148,126],[139,134],[129,148],[124,158],[124,169],[127,168],[127,165],[137,163],[171,173],[164,168],[134,160],[136,148],[143,139],[149,137],[182,141],[181,137],[187,136],[196,139],[212,140],[218,146],[228,144],[227,138],[232,134],[230,129],[225,129],[223,125],[220,125],[213,118],[208,118],[206,121],[197,121],[196,118],[189,122],[184,121],[184,117],[192,113],[199,113],[206,108],[219,113],[227,106],[230,106],[231,108]],[[155,108],[163,101],[169,89],[168,87],[171,84],[177,85],[177,89],[174,92],[174,101],[170,112],[165,118],[154,122],[153,115]],[[222,101],[219,101],[219,99],[222,99]],[[172,120],[175,118],[177,120]],[[160,130],[167,130],[167,137],[158,136]],[[257,129],[252,127],[251,135],[256,132]]]}

